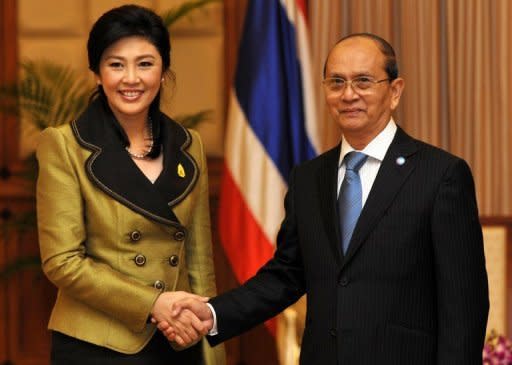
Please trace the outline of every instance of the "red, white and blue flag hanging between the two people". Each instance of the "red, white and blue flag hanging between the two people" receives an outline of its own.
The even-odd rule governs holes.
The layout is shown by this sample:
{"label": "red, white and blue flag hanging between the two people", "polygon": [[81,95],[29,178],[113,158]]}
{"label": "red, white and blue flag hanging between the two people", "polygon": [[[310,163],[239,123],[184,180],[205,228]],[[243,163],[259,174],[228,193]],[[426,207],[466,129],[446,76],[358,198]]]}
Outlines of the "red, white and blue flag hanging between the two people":
{"label": "red, white and blue flag hanging between the two people", "polygon": [[305,0],[249,1],[219,204],[221,243],[240,283],[273,255],[291,168],[319,151],[320,88],[311,80]]}

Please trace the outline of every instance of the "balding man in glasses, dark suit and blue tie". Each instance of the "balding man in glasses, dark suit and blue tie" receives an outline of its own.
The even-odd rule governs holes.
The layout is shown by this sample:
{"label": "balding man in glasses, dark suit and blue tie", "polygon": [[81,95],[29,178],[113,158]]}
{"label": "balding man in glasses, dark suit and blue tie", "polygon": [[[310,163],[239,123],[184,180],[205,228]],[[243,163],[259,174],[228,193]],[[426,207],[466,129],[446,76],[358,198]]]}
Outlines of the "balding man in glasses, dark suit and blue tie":
{"label": "balding man in glasses, dark suit and blue tie", "polygon": [[396,126],[404,81],[385,40],[343,38],[324,77],[342,141],[292,172],[274,257],[213,311],[188,299],[175,314],[214,312],[217,344],[306,293],[303,365],[481,364],[489,302],[468,165]]}

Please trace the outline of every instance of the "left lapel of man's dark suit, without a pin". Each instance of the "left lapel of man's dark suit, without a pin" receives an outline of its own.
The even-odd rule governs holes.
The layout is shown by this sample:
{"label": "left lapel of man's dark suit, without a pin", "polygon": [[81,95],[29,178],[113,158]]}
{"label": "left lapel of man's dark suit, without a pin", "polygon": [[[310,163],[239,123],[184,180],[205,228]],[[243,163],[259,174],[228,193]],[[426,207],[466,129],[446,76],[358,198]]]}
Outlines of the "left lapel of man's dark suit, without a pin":
{"label": "left lapel of man's dark suit, without a pin", "polygon": [[339,218],[337,209],[337,187],[338,187],[338,162],[340,158],[341,145],[327,151],[322,158],[322,164],[318,174],[318,189],[320,196],[320,214],[324,224],[325,232],[329,239],[329,246],[341,264]]}

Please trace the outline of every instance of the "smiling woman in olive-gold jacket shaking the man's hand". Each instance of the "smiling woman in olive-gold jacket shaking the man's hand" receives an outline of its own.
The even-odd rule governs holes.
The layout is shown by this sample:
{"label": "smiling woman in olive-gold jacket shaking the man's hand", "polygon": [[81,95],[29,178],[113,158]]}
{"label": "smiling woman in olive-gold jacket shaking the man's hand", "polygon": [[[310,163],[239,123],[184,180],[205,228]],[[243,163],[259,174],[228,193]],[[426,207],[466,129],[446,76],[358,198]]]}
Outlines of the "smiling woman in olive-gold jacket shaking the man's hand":
{"label": "smiling woman in olive-gold jacket shaking the man's hand", "polygon": [[[52,364],[223,365],[222,348],[169,344],[150,320],[171,320],[179,291],[215,294],[203,147],[159,109],[168,30],[122,6],[93,25],[87,49],[96,96],[37,149],[41,257],[59,289]],[[180,343],[205,333],[188,320]]]}

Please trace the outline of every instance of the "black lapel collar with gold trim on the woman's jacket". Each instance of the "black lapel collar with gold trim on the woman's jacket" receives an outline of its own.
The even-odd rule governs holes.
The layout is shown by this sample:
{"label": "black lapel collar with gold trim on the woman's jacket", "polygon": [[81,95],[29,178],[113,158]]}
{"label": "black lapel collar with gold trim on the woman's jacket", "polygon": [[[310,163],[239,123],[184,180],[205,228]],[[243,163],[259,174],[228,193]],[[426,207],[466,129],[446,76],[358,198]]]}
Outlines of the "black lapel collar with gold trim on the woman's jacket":
{"label": "black lapel collar with gold trim on the woman's jacket", "polygon": [[[153,185],[135,165],[124,149],[122,130],[112,112],[96,99],[87,110],[71,123],[78,143],[93,152],[85,169],[89,179],[103,192],[130,209],[154,221],[181,226],[171,206],[181,201],[192,189],[198,168],[185,149],[191,137],[186,129],[162,113],[152,115],[159,123],[164,148],[164,171]],[[172,155],[176,155],[171,157]],[[173,160],[174,159],[174,160]],[[180,161],[186,172],[183,178],[171,177],[168,161]],[[166,178],[167,177],[167,178]]]}

